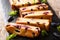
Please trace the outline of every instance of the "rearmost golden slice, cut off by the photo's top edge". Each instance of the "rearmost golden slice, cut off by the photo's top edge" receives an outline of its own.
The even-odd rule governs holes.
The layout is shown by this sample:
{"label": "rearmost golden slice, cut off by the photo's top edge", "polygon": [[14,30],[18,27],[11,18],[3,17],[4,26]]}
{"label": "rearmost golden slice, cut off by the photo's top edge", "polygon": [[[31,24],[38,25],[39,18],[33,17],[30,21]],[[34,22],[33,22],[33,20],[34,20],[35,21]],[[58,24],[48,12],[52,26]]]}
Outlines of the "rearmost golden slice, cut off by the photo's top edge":
{"label": "rearmost golden slice, cut off by the photo's top edge", "polygon": [[9,0],[9,2],[13,8],[40,3],[39,0]]}

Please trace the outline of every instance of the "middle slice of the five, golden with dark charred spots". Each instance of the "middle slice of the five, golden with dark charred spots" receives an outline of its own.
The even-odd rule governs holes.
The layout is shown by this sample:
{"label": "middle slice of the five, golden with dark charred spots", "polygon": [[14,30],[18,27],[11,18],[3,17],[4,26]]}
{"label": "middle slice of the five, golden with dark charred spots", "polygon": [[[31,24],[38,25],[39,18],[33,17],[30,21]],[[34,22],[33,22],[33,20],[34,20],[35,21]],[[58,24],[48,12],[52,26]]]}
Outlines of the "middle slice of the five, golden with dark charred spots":
{"label": "middle slice of the five, golden with dark charred spots", "polygon": [[51,12],[51,10],[44,10],[44,11],[22,12],[21,15],[24,18],[36,18],[36,19],[52,20],[53,13]]}

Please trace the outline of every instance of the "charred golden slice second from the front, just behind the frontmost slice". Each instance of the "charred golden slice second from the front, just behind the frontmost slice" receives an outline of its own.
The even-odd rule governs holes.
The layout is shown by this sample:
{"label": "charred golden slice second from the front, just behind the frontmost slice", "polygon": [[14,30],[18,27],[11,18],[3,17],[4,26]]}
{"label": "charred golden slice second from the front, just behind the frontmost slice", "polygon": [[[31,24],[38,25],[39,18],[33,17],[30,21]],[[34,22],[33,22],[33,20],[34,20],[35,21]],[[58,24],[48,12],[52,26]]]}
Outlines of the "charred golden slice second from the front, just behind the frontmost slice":
{"label": "charred golden slice second from the front, just behind the frontmost slice", "polygon": [[18,18],[16,23],[38,26],[41,29],[46,29],[46,30],[49,30],[49,24],[50,24],[48,19],[29,19],[29,18]]}

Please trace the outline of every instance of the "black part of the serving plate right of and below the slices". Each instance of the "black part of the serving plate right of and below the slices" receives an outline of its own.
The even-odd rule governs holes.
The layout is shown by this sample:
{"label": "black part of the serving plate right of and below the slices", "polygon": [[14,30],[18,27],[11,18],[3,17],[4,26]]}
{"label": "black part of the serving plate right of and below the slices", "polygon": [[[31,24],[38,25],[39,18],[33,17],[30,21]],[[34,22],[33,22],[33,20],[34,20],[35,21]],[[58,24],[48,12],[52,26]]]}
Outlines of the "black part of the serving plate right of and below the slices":
{"label": "black part of the serving plate right of and below the slices", "polygon": [[50,7],[50,5],[49,5],[49,9],[52,10],[54,15],[53,15],[53,21],[50,25],[50,30],[48,31],[48,36],[42,37],[41,34],[37,38],[26,38],[26,37],[16,36],[12,40],[60,40],[60,37],[57,37],[56,35],[54,35],[54,33],[56,33],[57,35],[60,35],[60,32],[58,32],[56,28],[58,25],[60,25],[60,20],[57,18],[55,12]]}

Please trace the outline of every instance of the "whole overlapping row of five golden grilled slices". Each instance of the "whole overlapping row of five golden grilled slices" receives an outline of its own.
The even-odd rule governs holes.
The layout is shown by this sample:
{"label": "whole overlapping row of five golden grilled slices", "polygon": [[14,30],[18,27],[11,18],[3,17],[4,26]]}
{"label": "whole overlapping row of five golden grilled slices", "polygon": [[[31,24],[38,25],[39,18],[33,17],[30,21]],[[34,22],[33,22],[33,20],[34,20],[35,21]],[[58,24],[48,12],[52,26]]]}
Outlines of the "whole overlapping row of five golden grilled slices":
{"label": "whole overlapping row of five golden grilled slices", "polygon": [[12,10],[19,9],[16,23],[9,23],[7,31],[20,36],[37,37],[41,30],[49,30],[53,13],[39,0],[9,0]]}

